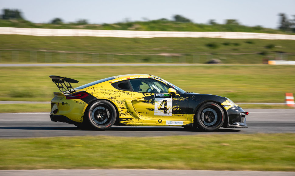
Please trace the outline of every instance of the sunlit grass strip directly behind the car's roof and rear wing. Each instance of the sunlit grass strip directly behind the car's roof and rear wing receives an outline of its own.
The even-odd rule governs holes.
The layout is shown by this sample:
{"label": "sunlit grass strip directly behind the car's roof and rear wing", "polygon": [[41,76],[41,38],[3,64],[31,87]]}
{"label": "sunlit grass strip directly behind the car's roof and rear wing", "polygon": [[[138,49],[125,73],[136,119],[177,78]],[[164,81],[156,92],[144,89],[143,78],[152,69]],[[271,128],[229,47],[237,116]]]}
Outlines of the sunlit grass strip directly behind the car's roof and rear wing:
{"label": "sunlit grass strip directly behind the car's roof and rear wing", "polygon": [[0,100],[50,101],[59,91],[48,77],[73,78],[74,87],[110,76],[143,73],[160,76],[183,90],[225,96],[241,103],[284,103],[295,93],[294,66],[71,66],[0,67]]}

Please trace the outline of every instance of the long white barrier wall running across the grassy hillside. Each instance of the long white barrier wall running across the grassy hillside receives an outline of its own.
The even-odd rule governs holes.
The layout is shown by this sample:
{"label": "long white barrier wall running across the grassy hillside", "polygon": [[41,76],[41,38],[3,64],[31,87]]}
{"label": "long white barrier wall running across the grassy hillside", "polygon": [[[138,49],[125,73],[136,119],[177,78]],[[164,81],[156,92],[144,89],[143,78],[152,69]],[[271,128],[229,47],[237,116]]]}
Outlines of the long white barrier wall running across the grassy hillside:
{"label": "long white barrier wall running across the grassy hillside", "polygon": [[224,39],[268,39],[295,40],[295,35],[265,34],[254,32],[171,32],[171,31],[123,31],[123,30],[90,30],[90,29],[40,29],[40,28],[4,28],[0,35],[26,36],[91,36],[122,38],[154,37],[191,37],[191,38],[224,38]]}

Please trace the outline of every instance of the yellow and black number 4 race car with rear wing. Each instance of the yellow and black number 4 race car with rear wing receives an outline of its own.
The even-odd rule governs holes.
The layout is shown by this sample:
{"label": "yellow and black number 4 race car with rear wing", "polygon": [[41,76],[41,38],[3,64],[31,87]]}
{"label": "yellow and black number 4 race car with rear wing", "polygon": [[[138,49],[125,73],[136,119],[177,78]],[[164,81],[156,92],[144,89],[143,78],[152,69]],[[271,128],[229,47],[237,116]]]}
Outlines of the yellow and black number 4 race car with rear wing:
{"label": "yellow and black number 4 race car with rear wing", "polygon": [[215,131],[247,128],[246,115],[229,98],[191,93],[146,74],[112,76],[73,88],[77,80],[49,76],[60,92],[51,100],[50,119],[77,127],[182,126]]}

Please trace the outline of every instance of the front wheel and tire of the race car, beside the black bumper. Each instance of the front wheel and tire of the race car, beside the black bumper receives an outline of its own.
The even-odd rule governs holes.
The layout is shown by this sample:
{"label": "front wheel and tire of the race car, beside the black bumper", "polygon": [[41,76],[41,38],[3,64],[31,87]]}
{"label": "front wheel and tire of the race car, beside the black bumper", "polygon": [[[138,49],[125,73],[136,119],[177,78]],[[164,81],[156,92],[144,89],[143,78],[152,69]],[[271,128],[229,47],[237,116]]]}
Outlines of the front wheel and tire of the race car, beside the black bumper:
{"label": "front wheel and tire of the race car, beside the black bumper", "polygon": [[224,123],[224,112],[213,102],[204,103],[197,111],[194,119],[195,127],[205,131],[218,130]]}

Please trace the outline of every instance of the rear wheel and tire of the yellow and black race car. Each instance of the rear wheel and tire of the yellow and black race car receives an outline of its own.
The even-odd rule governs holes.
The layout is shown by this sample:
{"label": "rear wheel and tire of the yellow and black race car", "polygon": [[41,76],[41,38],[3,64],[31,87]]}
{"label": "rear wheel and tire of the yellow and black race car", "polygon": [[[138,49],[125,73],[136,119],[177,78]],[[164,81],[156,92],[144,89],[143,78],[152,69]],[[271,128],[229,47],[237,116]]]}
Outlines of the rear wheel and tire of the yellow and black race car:
{"label": "rear wheel and tire of the yellow and black race car", "polygon": [[106,100],[98,100],[88,109],[88,122],[98,130],[106,130],[116,122],[116,109]]}

